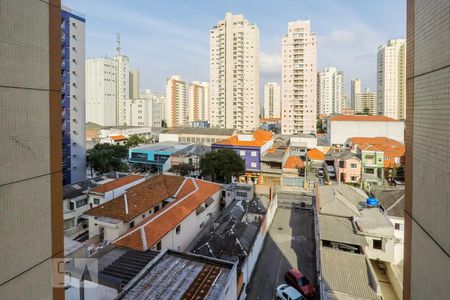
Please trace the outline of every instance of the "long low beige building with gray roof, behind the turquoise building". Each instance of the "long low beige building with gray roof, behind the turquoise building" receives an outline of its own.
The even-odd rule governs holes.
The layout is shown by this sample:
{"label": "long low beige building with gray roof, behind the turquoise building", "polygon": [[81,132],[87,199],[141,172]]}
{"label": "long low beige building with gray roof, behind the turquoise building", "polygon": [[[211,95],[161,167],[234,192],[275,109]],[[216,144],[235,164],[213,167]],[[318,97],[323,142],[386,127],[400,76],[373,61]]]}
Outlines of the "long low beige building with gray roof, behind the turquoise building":
{"label": "long low beige building with gray roof, behind the turquoise building", "polygon": [[170,128],[159,134],[159,142],[178,142],[211,146],[236,134],[235,129],[227,128]]}

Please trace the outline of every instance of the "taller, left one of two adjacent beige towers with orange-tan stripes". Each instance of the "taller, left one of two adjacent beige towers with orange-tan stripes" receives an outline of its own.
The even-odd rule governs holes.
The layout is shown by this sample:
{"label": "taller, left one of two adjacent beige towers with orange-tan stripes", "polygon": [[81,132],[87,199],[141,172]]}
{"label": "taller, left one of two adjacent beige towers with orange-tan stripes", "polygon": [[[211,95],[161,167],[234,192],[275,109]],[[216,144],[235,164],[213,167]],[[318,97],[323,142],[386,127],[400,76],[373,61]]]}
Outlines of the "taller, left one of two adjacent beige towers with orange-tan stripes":
{"label": "taller, left one of two adjacent beige towers with orange-tan stripes", "polygon": [[167,127],[185,127],[188,125],[186,82],[174,75],[166,80],[164,113]]}

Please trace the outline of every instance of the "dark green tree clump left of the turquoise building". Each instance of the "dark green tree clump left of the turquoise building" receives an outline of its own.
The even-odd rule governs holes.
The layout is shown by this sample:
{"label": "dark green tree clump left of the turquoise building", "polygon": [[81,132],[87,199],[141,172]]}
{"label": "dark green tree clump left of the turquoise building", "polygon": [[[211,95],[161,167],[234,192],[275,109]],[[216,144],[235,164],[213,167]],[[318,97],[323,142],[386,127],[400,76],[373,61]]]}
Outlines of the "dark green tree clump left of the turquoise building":
{"label": "dark green tree clump left of the turquoise building", "polygon": [[122,145],[111,145],[108,143],[97,144],[88,150],[88,165],[99,173],[110,171],[128,171],[128,166],[123,162],[127,157],[128,150]]}

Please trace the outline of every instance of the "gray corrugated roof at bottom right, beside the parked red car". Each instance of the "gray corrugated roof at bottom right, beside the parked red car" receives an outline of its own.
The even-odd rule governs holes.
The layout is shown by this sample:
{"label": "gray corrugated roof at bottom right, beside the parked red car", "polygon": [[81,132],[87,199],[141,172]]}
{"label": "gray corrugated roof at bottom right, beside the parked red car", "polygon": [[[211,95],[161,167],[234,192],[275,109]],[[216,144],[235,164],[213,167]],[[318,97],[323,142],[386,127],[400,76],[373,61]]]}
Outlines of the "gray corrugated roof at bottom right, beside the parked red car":
{"label": "gray corrugated roof at bottom right, beside the parked red car", "polygon": [[320,256],[328,293],[348,295],[350,299],[379,299],[371,286],[369,276],[373,271],[364,255],[321,248]]}

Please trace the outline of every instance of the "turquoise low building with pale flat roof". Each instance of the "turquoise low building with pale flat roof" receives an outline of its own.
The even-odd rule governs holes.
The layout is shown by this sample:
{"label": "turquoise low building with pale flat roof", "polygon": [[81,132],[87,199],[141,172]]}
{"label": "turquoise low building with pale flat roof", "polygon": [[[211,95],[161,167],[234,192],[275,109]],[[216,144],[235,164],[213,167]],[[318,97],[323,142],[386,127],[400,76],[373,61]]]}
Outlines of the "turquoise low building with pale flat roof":
{"label": "turquoise low building with pale flat roof", "polygon": [[189,144],[173,141],[134,147],[128,150],[128,161],[138,169],[165,172],[171,167],[170,157],[186,147]]}

